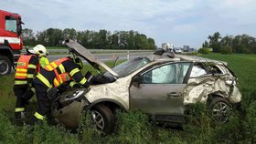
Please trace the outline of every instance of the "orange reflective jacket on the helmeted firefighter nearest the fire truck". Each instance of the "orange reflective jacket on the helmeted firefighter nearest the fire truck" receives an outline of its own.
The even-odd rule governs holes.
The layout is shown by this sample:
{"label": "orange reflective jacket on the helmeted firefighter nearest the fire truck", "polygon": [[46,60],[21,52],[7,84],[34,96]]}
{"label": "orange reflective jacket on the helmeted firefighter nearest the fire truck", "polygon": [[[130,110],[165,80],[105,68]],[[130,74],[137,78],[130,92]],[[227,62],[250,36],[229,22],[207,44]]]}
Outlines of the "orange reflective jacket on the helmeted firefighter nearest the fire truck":
{"label": "orange reflective jacket on the helmeted firefighter nearest the fire truck", "polygon": [[34,75],[39,71],[40,64],[35,55],[21,55],[17,60],[15,87],[25,87],[31,84]]}

